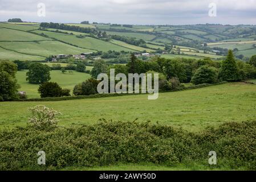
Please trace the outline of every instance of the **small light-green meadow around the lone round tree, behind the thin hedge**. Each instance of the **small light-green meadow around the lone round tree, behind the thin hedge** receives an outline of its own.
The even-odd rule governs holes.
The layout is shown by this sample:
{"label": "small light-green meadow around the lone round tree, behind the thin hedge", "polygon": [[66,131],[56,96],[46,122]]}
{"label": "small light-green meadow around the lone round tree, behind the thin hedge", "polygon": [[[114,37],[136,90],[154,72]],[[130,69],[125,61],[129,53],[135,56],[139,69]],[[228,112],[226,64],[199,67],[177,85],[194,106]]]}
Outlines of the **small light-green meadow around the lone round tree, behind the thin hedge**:
{"label": "small light-green meadow around the lone round tree, behind the thin hedge", "polygon": [[[30,84],[26,81],[26,72],[18,71],[17,73],[17,80],[21,88],[19,90],[27,92],[27,96],[29,98],[39,98],[40,94],[38,93],[37,89],[39,87],[38,84]],[[72,90],[76,84],[79,82],[85,81],[91,76],[87,73],[80,73],[73,71],[73,73],[62,73],[59,70],[51,71],[51,80],[53,82],[57,82],[62,88],[67,88]]]}

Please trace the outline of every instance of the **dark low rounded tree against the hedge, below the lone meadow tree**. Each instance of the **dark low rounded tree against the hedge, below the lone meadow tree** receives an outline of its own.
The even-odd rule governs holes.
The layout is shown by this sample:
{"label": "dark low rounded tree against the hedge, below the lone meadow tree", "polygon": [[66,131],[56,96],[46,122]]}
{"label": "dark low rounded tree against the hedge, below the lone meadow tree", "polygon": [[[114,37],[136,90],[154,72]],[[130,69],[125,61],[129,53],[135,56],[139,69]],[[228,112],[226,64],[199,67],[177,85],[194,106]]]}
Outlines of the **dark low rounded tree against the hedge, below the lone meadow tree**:
{"label": "dark low rounded tree against the hedge, below the lone meadow tree", "polygon": [[44,82],[38,88],[40,97],[61,97],[62,88],[56,82]]}

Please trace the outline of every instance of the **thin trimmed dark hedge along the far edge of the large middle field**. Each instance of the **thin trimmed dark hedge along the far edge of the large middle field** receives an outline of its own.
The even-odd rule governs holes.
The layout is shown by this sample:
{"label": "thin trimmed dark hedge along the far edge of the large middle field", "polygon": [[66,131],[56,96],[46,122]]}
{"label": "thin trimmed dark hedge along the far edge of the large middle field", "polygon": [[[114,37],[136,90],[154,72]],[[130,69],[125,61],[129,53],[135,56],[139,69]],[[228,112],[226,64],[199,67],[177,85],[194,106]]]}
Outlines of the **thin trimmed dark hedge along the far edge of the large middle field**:
{"label": "thin trimmed dark hedge along the far edge of the large middle field", "polygon": [[[169,92],[176,92],[176,91],[181,91],[181,90],[190,90],[190,89],[197,89],[197,88],[204,88],[208,86],[213,86],[213,85],[220,85],[220,84],[226,84],[226,81],[219,82],[217,84],[200,84],[200,85],[192,85],[188,87],[180,87],[175,90],[171,90]],[[133,93],[134,95],[135,93]],[[141,94],[141,93],[140,93]],[[128,93],[108,93],[108,94],[94,94],[90,96],[68,96],[68,97],[46,97],[46,98],[27,98],[27,99],[20,99],[20,100],[15,100],[15,101],[67,101],[67,100],[81,100],[81,99],[86,99],[86,98],[101,98],[101,97],[116,97],[116,96],[128,96],[131,94]]]}

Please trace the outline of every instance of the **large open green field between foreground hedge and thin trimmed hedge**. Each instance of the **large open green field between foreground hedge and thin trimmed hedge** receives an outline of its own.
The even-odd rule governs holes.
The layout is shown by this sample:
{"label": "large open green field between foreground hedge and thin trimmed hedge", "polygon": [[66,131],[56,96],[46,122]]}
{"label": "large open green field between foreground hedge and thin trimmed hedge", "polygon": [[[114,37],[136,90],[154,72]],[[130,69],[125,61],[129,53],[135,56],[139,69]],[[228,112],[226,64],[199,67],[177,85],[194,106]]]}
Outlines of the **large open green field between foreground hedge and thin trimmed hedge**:
{"label": "large open green field between foreground hedge and thin trimmed hedge", "polygon": [[[60,85],[62,80],[66,80],[63,76],[58,79],[52,74],[52,80]],[[84,77],[80,81],[75,76],[74,79],[80,82]],[[0,128],[25,126],[29,117],[27,108],[43,104],[62,113],[60,125],[64,126],[95,123],[100,118],[114,121],[133,121],[138,118],[138,121],[149,119],[153,123],[201,131],[206,126],[255,119],[255,94],[256,85],[233,82],[201,89],[160,93],[157,100],[147,100],[147,95],[136,95],[59,102],[1,102]]]}

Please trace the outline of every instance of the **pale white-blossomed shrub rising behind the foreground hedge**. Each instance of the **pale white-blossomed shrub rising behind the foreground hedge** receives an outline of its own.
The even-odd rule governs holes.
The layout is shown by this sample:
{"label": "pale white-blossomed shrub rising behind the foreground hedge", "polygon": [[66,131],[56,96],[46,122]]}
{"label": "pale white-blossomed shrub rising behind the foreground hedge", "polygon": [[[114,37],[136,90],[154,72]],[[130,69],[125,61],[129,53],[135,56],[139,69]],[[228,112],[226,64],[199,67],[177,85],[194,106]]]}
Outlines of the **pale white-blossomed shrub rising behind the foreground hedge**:
{"label": "pale white-blossomed shrub rising behind the foreground hedge", "polygon": [[31,107],[31,116],[29,122],[33,127],[40,130],[53,129],[57,126],[59,120],[56,115],[60,114],[58,111],[50,109],[44,105]]}

